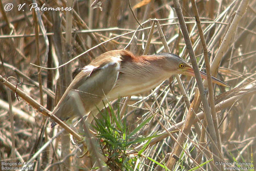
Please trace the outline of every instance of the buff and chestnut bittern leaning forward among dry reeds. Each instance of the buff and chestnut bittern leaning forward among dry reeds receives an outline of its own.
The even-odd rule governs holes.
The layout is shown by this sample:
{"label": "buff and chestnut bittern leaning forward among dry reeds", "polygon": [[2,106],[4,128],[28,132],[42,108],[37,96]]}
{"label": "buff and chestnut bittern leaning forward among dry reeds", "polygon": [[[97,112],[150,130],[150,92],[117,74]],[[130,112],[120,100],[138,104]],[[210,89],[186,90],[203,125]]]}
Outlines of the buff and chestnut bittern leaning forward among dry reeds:
{"label": "buff and chestnut bittern leaning forward among dry reeds", "polygon": [[[123,49],[108,51],[82,68],[52,114],[62,121],[74,119],[82,106],[86,121],[91,123],[108,101],[150,91],[174,74],[195,76],[191,64],[172,53],[135,56]],[[200,74],[207,78],[204,72]],[[212,82],[227,86],[214,77]],[[77,98],[82,105],[76,104]],[[55,125],[53,122],[51,127]]]}

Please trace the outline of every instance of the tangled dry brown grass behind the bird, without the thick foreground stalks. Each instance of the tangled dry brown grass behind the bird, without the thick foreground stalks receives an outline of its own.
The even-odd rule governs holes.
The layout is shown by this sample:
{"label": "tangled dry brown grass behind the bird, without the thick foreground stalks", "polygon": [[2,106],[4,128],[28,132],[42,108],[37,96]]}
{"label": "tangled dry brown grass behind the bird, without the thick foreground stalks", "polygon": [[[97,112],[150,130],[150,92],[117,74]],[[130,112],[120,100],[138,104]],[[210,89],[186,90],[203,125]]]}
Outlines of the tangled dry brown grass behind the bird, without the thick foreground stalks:
{"label": "tangled dry brown grass behind the bird, without the thick foreground stalks", "polygon": [[[145,4],[141,4],[140,2],[144,2]],[[199,69],[202,68],[202,70],[205,70],[202,44],[196,27],[195,15],[191,3],[187,0],[179,2],[197,57]],[[196,1],[210,62],[213,61],[220,44],[225,41],[224,36],[226,32],[228,32],[230,23],[234,18],[233,13],[238,9],[241,2],[243,1]],[[8,3],[13,4],[13,9],[10,11],[4,10],[4,7],[7,7],[5,5]],[[18,5],[22,5],[23,3],[25,3],[25,5],[19,10]],[[141,28],[137,30],[139,24],[129,8],[128,1],[125,0],[105,0],[101,5],[102,11],[99,8],[92,9],[90,7],[92,1],[75,1],[73,4],[74,11],[72,13],[72,21],[66,18],[65,11],[61,11],[60,13],[48,10],[38,11],[38,14],[40,14],[42,18],[42,27],[44,27],[48,34],[49,46],[42,36],[38,14],[35,13],[33,17],[33,10],[30,10],[31,5],[29,6],[29,4],[31,3],[32,1],[1,1],[3,8],[0,9],[0,75],[4,78],[9,78],[8,81],[22,89],[27,95],[31,96],[50,111],[52,111],[54,107],[55,93],[53,92],[55,92],[55,85],[57,84],[58,70],[38,70],[37,67],[32,66],[30,63],[53,68],[57,67],[58,62],[59,64],[65,63],[64,61],[73,59],[94,47],[78,59],[72,61],[69,66],[65,66],[65,69],[62,67],[62,71],[60,71],[61,73],[67,73],[67,70],[73,72],[76,68],[81,68],[88,64],[101,53],[113,49],[123,49],[129,44],[134,33],[137,39],[133,37],[128,49],[137,55],[141,55],[143,54],[143,47],[146,45],[146,40],[153,21],[148,20],[150,18],[159,20],[170,51],[180,55],[180,57],[184,59],[189,59],[188,50],[185,48],[185,41],[178,24],[178,19],[176,18],[177,16],[172,1],[131,1],[133,12],[139,23],[143,25],[144,30]],[[45,4],[45,7],[66,7],[64,0],[47,2],[40,0],[37,1],[37,4],[39,7],[43,4]],[[220,154],[217,154],[219,155],[220,162],[256,161],[255,9],[256,1],[251,0],[247,11],[240,20],[236,30],[233,32],[232,37],[230,37],[231,40],[227,43],[228,46],[224,48],[224,53],[221,54],[222,59],[216,77],[220,80],[224,80],[230,87],[219,87],[216,85],[213,87],[218,116],[217,120],[219,124],[221,123],[217,131],[218,134],[220,134],[219,144],[221,151]],[[62,19],[61,23],[58,21],[59,16],[61,16]],[[39,21],[38,24],[36,20]],[[60,23],[59,27],[57,26],[58,23]],[[71,30],[67,30],[67,35],[71,35],[72,37],[68,37],[64,33],[67,23],[72,26],[72,34]],[[35,36],[35,34],[37,35],[35,31],[37,27],[39,27],[38,37]],[[89,28],[92,31],[88,31]],[[53,32],[55,32],[55,36],[52,35]],[[59,34],[57,32],[59,32]],[[147,54],[165,53],[166,51],[163,48],[156,27],[152,35]],[[115,36],[116,38],[107,41]],[[107,42],[102,43],[104,41]],[[71,44],[67,45],[65,44],[66,42],[71,42]],[[48,49],[49,51],[47,51]],[[38,62],[38,59],[40,59],[40,62]],[[61,62],[60,59],[63,59],[63,61]],[[4,64],[2,62],[4,62]],[[192,102],[195,94],[195,79],[186,76],[181,76],[181,79],[185,85],[188,98],[190,102]],[[38,80],[42,80],[42,84],[39,84],[39,86],[37,86]],[[62,80],[67,81],[65,77],[63,77]],[[67,81],[67,83],[62,82],[61,84],[68,85],[69,83]],[[165,82],[160,86],[157,94],[155,94],[157,99],[151,95],[148,99],[145,99],[145,101],[132,105],[139,101],[139,97],[141,96],[131,98],[129,105],[132,106],[128,107],[128,113],[131,112],[132,115],[127,117],[127,120],[131,120],[133,123],[131,124],[131,131],[143,122],[143,120],[152,116],[152,111],[157,111],[157,113],[153,112],[156,115],[152,120],[135,134],[137,137],[148,137],[152,134],[160,134],[167,129],[177,129],[174,124],[185,120],[188,111],[182,94],[180,93],[177,80],[174,79],[171,83],[171,91],[168,89],[168,84],[169,82]],[[40,87],[42,87],[42,89]],[[148,94],[150,94],[150,92],[142,96],[146,97]],[[44,143],[54,137],[60,129],[51,129],[49,124],[47,124],[46,132],[42,135],[44,138],[42,138],[41,143],[39,143],[40,145],[38,145],[37,141],[40,137],[42,126],[46,121],[46,117],[43,116],[40,111],[36,110],[34,108],[35,106],[26,103],[20,96],[17,97],[15,91],[9,91],[9,88],[7,88],[4,83],[0,84],[0,98],[0,161],[28,162],[32,159],[34,153],[36,153]],[[218,108],[218,105],[221,106],[225,100],[228,100],[225,108]],[[8,101],[12,101],[13,114],[8,112]],[[161,112],[158,110],[159,107],[156,101],[160,104]],[[200,112],[200,108],[199,110],[195,110],[195,113]],[[203,115],[200,115],[200,117],[200,119],[202,119]],[[207,162],[212,157],[212,143],[205,146],[207,142],[211,141],[209,134],[205,133],[207,132],[205,130],[206,124],[202,126],[202,122],[204,123],[204,121],[201,120],[198,122],[199,124],[193,124],[191,129],[189,128],[189,134],[183,137],[185,138],[184,144],[186,145],[186,153],[183,157],[177,156],[178,159],[183,159],[183,166],[184,163],[186,163],[191,168],[194,168],[198,166],[198,164]],[[181,125],[182,124],[179,126]],[[168,157],[176,142],[173,138],[177,138],[178,134],[179,131],[172,133],[173,137],[170,134],[164,134],[158,138],[153,138],[150,142],[150,147],[145,150],[144,155],[158,162],[163,159],[168,161]],[[14,142],[15,145],[13,145]],[[180,144],[183,146],[183,149],[184,144]],[[139,145],[140,144],[133,145],[132,148]],[[71,158],[73,160],[65,160],[68,157],[63,157],[65,162],[68,161],[71,163],[71,166],[66,168],[67,170],[76,170],[76,166],[82,168],[92,167],[92,163],[85,159],[80,161],[79,164],[75,163],[76,157],[73,152],[76,150],[76,147],[73,144],[70,146],[72,150]],[[189,151],[193,147],[195,147],[195,149],[190,153]],[[56,163],[62,160],[60,151],[60,139],[57,137],[46,149],[40,152],[37,158],[31,160],[31,162],[34,163],[34,170],[44,170],[48,168],[52,170],[60,168],[62,170],[63,168],[61,168],[61,166],[63,166],[63,163]],[[129,152],[132,153],[133,151]],[[153,170],[157,167],[156,163],[147,158],[139,156],[138,159],[141,161],[139,165],[140,169]],[[198,164],[196,164],[195,161]],[[121,167],[113,162],[113,158],[109,158],[107,163],[112,170]],[[55,164],[55,166],[52,164]],[[176,164],[174,168],[178,170],[178,166],[179,165]],[[173,170],[174,168],[171,167],[170,169]],[[214,166],[214,163],[211,162],[201,166],[201,169],[209,170],[209,168],[218,170],[218,168]],[[182,168],[182,170],[184,170],[184,168]]]}

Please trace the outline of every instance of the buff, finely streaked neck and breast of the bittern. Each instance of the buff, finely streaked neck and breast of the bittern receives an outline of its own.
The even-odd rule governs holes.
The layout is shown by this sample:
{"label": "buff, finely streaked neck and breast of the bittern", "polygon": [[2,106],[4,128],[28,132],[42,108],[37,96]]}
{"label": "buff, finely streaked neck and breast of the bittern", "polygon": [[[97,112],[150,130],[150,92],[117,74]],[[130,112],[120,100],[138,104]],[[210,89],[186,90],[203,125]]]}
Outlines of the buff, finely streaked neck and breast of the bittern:
{"label": "buff, finely streaked neck and breast of the bittern", "polygon": [[123,62],[113,89],[108,93],[110,100],[137,95],[157,87],[170,74],[149,61]]}

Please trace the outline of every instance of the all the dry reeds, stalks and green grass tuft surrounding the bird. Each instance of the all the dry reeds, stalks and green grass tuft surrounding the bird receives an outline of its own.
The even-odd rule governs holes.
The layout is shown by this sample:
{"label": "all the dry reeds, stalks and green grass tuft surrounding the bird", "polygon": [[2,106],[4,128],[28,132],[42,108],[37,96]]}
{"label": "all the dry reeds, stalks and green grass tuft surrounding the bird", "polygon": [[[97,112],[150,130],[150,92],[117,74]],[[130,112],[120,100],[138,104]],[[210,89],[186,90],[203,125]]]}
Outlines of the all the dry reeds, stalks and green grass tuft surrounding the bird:
{"label": "all the dry reeds, stalks and green grass tuft surrounding the bird", "polygon": [[[75,74],[75,70],[101,53],[127,47],[136,55],[142,55],[145,47],[149,47],[147,54],[166,53],[169,48],[171,53],[189,60],[193,48],[199,69],[205,72],[205,47],[191,1],[179,1],[186,24],[183,28],[179,18],[182,16],[177,17],[178,9],[174,8],[175,0],[99,2],[102,4],[97,6],[96,1],[97,8],[93,9],[90,7],[92,0],[73,3],[40,0],[36,1],[40,7],[36,10],[31,8],[34,1],[0,1],[0,75],[8,78],[8,82],[0,79],[1,162],[28,162],[25,164],[33,166],[34,170],[81,170],[90,169],[95,161],[97,163],[95,154],[77,159],[77,146],[69,143],[69,136],[63,141],[70,147],[61,148],[61,138],[56,136],[60,135],[61,127],[51,129],[48,117],[42,113],[47,115],[46,109],[53,110],[54,98],[61,97],[71,82],[72,72]],[[8,3],[13,4],[10,11]],[[65,8],[69,3],[71,11],[48,9]],[[210,90],[205,91],[209,93],[208,107],[215,105],[216,115],[211,110],[212,123],[218,124],[218,130],[216,125],[212,130],[203,119],[202,110],[210,111],[210,108],[201,105],[201,98],[195,93],[195,78],[181,76],[186,101],[174,77],[170,84],[164,82],[154,93],[132,96],[127,103],[122,98],[111,103],[113,110],[107,109],[107,114],[102,111],[101,119],[93,128],[99,133],[98,141],[96,138],[93,141],[98,146],[95,150],[105,155],[102,161],[108,170],[136,170],[135,167],[137,170],[163,170],[164,165],[170,170],[223,170],[223,165],[214,163],[231,162],[226,166],[234,167],[235,161],[256,161],[256,1],[249,1],[248,6],[245,0],[197,0],[195,3],[207,45],[205,55],[210,64],[220,63],[218,74],[212,72],[212,75],[230,86],[214,85],[214,96]],[[241,6],[247,7],[244,14]],[[184,35],[185,28],[189,39]],[[187,44],[189,40],[191,47]],[[59,70],[32,65],[55,68],[75,57]],[[213,62],[214,59],[219,61]],[[217,65],[211,66],[211,70],[216,70]],[[13,85],[12,90],[8,88],[9,82]],[[56,86],[58,82],[59,87]],[[125,112],[121,110],[123,103],[128,105]],[[189,110],[190,105],[193,110]],[[106,115],[116,115],[120,120],[111,117],[110,124],[104,125],[108,120]],[[182,127],[184,122],[187,124]],[[43,126],[44,132],[41,131]],[[85,135],[73,135],[75,140],[80,136]],[[216,143],[215,151],[213,142]],[[44,144],[48,145],[42,148]],[[61,156],[64,149],[66,154]],[[247,163],[245,166],[254,165]]]}

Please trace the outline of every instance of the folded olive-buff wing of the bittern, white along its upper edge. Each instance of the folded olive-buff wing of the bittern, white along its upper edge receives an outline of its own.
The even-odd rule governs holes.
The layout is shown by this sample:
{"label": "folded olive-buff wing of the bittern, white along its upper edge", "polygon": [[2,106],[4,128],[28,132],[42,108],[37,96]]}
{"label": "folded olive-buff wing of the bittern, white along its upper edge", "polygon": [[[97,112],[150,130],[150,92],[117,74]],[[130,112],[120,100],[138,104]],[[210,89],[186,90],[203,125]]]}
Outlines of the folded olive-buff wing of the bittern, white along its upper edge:
{"label": "folded olive-buff wing of the bittern, white along its upper edge", "polygon": [[[53,114],[61,120],[78,116],[79,111],[74,98],[81,100],[86,113],[95,108],[115,86],[119,68],[119,62],[84,67],[61,97]],[[78,94],[79,97],[74,94]]]}

